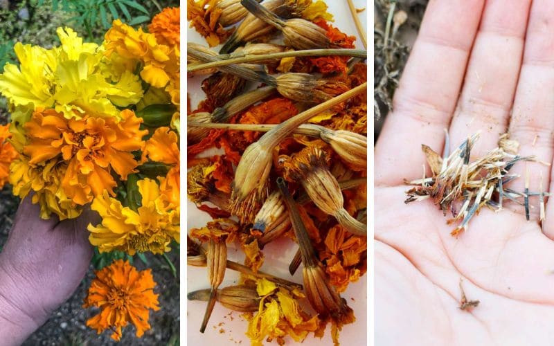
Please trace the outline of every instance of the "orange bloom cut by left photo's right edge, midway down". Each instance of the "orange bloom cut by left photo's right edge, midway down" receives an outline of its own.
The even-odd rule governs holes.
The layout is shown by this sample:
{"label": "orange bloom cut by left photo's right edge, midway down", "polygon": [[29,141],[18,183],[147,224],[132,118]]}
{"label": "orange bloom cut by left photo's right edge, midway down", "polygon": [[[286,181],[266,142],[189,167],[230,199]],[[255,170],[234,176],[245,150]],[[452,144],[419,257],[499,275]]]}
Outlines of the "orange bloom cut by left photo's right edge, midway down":
{"label": "orange bloom cut by left photo's right edge, midway down", "polygon": [[171,168],[165,177],[159,176],[160,190],[166,194],[171,203],[179,206],[181,191],[181,166],[179,165],[179,138],[169,127],[159,127],[154,135],[146,141],[143,157],[151,161],[165,163]]}

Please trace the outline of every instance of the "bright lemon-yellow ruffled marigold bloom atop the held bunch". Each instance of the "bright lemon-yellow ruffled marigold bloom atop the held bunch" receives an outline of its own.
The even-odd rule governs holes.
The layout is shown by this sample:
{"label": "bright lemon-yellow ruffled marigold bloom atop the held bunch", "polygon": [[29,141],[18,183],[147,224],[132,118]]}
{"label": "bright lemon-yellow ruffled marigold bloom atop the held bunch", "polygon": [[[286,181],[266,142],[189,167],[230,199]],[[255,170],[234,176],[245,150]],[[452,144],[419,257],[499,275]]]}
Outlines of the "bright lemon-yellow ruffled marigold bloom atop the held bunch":
{"label": "bright lemon-yellow ruffled marigold bloom atop the held bunch", "polygon": [[66,118],[119,116],[117,107],[141,100],[141,81],[132,64],[106,59],[104,48],[84,43],[71,28],[58,28],[61,46],[15,44],[19,68],[6,64],[0,93],[14,107],[54,108]]}

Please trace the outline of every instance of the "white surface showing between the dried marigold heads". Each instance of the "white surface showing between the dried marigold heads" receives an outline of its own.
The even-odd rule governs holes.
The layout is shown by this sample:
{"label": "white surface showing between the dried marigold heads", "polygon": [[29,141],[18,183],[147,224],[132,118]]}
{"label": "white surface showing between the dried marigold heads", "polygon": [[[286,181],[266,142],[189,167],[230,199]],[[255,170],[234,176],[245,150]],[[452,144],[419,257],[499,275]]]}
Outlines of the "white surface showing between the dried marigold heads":
{"label": "white surface showing between the dried marigold heads", "polygon": [[[347,35],[355,35],[359,37],[354,21],[350,15],[348,3],[346,0],[327,0],[325,1],[328,6],[328,12],[334,15],[334,22],[331,24],[339,28],[343,33]],[[366,8],[366,1],[354,0],[356,8]],[[359,13],[361,24],[364,28],[367,27],[367,8],[364,12]],[[188,27],[188,24],[187,24]],[[194,29],[188,28],[187,30],[187,42],[196,42],[199,44],[206,44],[204,38],[200,37]],[[359,38],[355,42],[356,48],[364,49]],[[219,47],[215,47],[216,50]],[[197,106],[200,100],[205,98],[204,92],[200,89],[199,85],[204,77],[188,78],[187,80],[187,92],[190,96],[191,106],[193,109]],[[187,226],[186,229],[202,227],[206,225],[206,222],[211,220],[211,217],[205,213],[197,210],[194,203],[187,200]],[[271,244],[268,244],[264,249],[265,262],[260,270],[269,271],[274,275],[278,275],[285,279],[292,280],[294,282],[302,282],[302,270],[301,268],[296,271],[294,277],[290,277],[288,273],[289,262],[294,257],[296,252],[296,244],[289,239],[278,239]],[[229,260],[240,262],[244,260],[242,251],[235,248],[229,248]],[[354,310],[356,316],[356,322],[345,325],[340,332],[341,345],[347,346],[361,346],[367,345],[367,275],[366,273],[358,282],[351,283],[348,289],[341,293],[341,296],[348,301],[348,305]],[[225,280],[220,287],[236,284],[239,274],[235,271],[226,271]],[[187,266],[187,287],[186,291],[195,291],[197,289],[209,288],[208,275],[205,268],[195,268]],[[352,300],[351,298],[354,298]],[[186,297],[181,299],[186,300]],[[204,311],[206,309],[206,302],[190,302],[187,303],[187,342],[188,345],[201,346],[201,345],[213,345],[213,346],[226,346],[226,345],[250,345],[249,338],[244,335],[247,331],[247,322],[240,317],[240,313],[226,309],[220,304],[215,304],[212,316],[208,322],[208,327],[204,334],[199,332],[202,318],[204,317]],[[310,311],[310,310],[308,310]],[[231,315],[229,315],[231,313]],[[231,320],[231,317],[233,320]],[[220,325],[221,324],[221,325]],[[220,333],[220,329],[224,329],[223,333]],[[272,343],[264,342],[264,345],[277,345],[274,341]],[[296,345],[292,338],[285,338],[285,345]],[[302,345],[314,346],[314,345],[333,345],[330,336],[330,325],[325,330],[325,336],[323,338],[314,338],[313,334],[307,336]]]}

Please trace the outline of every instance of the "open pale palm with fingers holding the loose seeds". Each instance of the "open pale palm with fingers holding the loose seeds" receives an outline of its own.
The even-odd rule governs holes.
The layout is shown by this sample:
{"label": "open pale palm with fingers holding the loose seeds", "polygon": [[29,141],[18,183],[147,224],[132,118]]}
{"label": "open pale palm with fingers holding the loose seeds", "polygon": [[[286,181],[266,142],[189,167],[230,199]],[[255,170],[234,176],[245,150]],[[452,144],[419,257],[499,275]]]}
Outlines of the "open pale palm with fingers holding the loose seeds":
{"label": "open pale palm with fingers holding the loose seeds", "polygon": [[[526,221],[506,206],[483,208],[456,239],[432,201],[404,204],[402,181],[422,176],[421,144],[442,152],[445,128],[451,150],[481,131],[472,156],[482,156],[509,131],[519,154],[551,163],[553,111],[553,1],[429,1],[375,149],[376,345],[552,344],[554,203],[544,233],[536,212]],[[530,190],[542,175],[554,192],[552,167],[527,167]],[[461,279],[481,302],[469,311],[459,309]]]}

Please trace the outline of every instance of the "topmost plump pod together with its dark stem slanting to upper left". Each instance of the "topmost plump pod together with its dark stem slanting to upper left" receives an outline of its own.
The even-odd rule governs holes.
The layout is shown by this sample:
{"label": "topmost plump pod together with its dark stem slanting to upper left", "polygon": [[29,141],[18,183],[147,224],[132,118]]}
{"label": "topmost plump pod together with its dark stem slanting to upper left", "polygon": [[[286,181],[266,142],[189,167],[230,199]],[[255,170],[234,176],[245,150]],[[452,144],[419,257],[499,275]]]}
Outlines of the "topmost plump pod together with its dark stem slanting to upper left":
{"label": "topmost plump pod together with its dark stem slanting to upper left", "polygon": [[242,0],[242,5],[253,15],[265,21],[267,24],[281,30],[285,37],[285,45],[295,49],[328,48],[331,44],[325,29],[317,26],[311,21],[301,18],[288,19],[283,21],[269,8],[260,5],[254,0]]}

